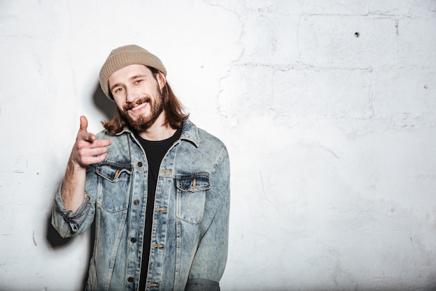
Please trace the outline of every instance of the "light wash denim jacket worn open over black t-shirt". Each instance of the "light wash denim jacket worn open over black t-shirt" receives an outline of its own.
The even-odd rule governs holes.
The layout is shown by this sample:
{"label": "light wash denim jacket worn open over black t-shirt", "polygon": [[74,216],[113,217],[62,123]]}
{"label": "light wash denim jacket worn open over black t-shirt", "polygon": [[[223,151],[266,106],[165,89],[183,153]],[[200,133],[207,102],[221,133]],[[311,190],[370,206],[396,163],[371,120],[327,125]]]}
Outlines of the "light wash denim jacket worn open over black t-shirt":
{"label": "light wash denim jacket worn open over black t-shirt", "polygon": [[[86,290],[138,290],[146,216],[147,158],[127,128],[114,136],[104,162],[86,170],[86,197],[74,213],[59,189],[52,224],[61,237],[81,234],[95,219]],[[159,169],[146,290],[219,290],[228,248],[228,152],[216,137],[183,124]]]}

